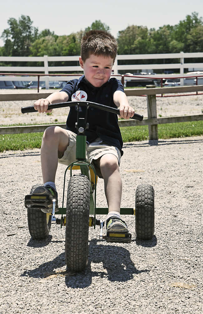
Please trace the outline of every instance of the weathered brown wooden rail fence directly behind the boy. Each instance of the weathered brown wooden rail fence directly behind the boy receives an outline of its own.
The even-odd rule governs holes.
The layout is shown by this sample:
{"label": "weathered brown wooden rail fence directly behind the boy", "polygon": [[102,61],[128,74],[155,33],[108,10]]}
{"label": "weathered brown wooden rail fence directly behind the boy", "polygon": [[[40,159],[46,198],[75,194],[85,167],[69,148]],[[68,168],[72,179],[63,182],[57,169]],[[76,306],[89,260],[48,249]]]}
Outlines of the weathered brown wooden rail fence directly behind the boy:
{"label": "weathered brown wooden rail fence directly behind the boy", "polygon": [[[174,93],[190,93],[203,91],[203,85],[196,86],[184,86],[184,87],[164,87],[155,88],[154,85],[148,85],[146,89],[127,89],[125,90],[126,96],[140,96],[147,95],[147,113],[148,118],[142,121],[136,120],[120,120],[118,122],[119,127],[129,127],[138,125],[148,125],[149,139],[158,139],[158,124],[176,123],[176,122],[189,122],[203,120],[202,115],[192,116],[172,116],[165,118],[157,118],[156,109],[156,95],[157,94],[174,94]],[[15,101],[15,100],[37,100],[39,98],[46,98],[51,93],[29,93],[29,94],[0,94],[0,101]],[[20,110],[20,108],[19,108]],[[34,133],[44,132],[47,127],[59,126],[66,128],[66,124],[44,124],[44,125],[29,125],[29,126],[17,126],[17,127],[0,127],[0,134],[16,134],[16,133]]]}

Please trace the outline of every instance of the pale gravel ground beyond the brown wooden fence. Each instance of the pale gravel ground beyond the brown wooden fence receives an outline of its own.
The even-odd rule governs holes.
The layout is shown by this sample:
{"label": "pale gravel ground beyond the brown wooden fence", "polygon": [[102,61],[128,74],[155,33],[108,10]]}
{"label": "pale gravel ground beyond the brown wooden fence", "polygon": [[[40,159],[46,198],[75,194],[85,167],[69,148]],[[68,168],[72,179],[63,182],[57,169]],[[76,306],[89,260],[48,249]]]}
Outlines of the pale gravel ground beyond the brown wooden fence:
{"label": "pale gravel ground beyond the brown wooden fence", "polygon": [[[5,93],[4,89],[0,89],[0,93],[3,93],[3,91]],[[56,90],[47,90],[47,92],[54,91]],[[31,91],[29,89],[27,90],[17,89],[16,92],[30,93]],[[128,101],[129,104],[136,110],[136,113],[139,113],[143,115],[145,118],[147,118],[146,97],[128,96]],[[33,100],[0,101],[0,125],[9,125],[14,123],[39,124],[39,123],[66,122],[69,108],[54,109],[52,111],[52,114],[48,116],[46,114],[41,113],[27,113],[24,115],[21,113],[21,107],[33,106],[33,104],[34,104]],[[202,114],[202,112],[203,112],[203,95],[192,95],[187,97],[186,96],[163,98],[157,97],[157,116],[160,115],[166,117],[195,114],[198,115]]]}

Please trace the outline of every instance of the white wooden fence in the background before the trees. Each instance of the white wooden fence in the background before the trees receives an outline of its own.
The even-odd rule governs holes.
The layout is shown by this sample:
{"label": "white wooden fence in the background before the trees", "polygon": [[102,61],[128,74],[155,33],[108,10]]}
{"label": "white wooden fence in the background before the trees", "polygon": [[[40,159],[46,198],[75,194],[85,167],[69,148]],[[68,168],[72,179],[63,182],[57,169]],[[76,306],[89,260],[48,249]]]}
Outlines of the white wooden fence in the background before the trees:
{"label": "white wooden fence in the background before the trees", "polygon": [[[180,59],[180,63],[171,63],[171,64],[129,64],[129,65],[118,65],[118,60],[150,60],[150,59]],[[187,77],[184,75],[184,68],[203,68],[203,63],[184,63],[184,58],[203,58],[203,52],[192,52],[192,53],[163,53],[163,54],[144,54],[144,55],[118,55],[116,57],[113,70],[114,74],[118,74],[120,70],[124,70],[126,72],[133,71],[133,70],[147,70],[147,69],[179,69],[180,74],[178,75],[170,75],[164,74],[164,78],[170,77]],[[61,67],[49,67],[48,62],[57,62],[57,61],[78,61],[79,56],[68,56],[68,57],[0,57],[0,62],[44,62],[43,67],[5,67],[0,66],[0,72],[44,72],[44,74],[49,74],[49,72],[76,72],[76,71],[83,71],[80,66],[61,66]],[[51,74],[50,74],[51,75]],[[74,76],[73,76],[74,77]],[[153,75],[153,78],[160,77],[159,75]],[[9,79],[8,79],[9,78]],[[40,81],[45,81],[46,89],[49,88],[49,81],[55,80],[70,80],[70,77],[51,77],[45,76],[40,77]],[[129,78],[130,79],[130,78]],[[11,77],[0,76],[0,80],[11,80]],[[19,80],[22,81],[22,77],[15,77],[12,80]],[[32,80],[37,81],[37,77],[28,76],[23,80]],[[183,78],[180,79],[181,86],[183,86]]]}

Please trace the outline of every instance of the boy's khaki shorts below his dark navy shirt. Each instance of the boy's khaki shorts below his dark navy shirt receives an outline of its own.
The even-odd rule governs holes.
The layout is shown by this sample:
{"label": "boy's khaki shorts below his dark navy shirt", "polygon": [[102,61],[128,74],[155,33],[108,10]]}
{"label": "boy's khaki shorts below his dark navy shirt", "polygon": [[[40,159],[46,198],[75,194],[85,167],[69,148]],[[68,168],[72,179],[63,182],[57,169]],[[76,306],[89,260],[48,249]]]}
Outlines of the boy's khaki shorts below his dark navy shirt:
{"label": "boy's khaki shorts below his dark navy shirt", "polygon": [[[66,130],[69,135],[69,145],[62,155],[58,152],[58,162],[62,165],[70,165],[76,161],[76,134],[72,131]],[[95,139],[93,143],[86,144],[86,157],[89,163],[93,163],[99,178],[102,178],[100,169],[97,166],[96,160],[105,154],[113,154],[118,158],[118,164],[120,165],[120,150],[115,147],[108,145],[101,138]]]}

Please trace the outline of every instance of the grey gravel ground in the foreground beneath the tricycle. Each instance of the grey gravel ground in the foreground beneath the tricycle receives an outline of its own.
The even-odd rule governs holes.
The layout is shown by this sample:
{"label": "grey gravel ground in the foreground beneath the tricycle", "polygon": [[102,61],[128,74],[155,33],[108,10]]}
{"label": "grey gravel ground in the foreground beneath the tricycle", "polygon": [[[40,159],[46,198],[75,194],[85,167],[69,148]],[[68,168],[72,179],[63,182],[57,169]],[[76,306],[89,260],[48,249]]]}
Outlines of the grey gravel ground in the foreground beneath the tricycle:
{"label": "grey gravel ground in the foreground beneath the tricycle", "polygon": [[[1,153],[0,313],[202,313],[202,144],[203,137],[124,144],[121,206],[134,206],[138,184],[152,184],[155,235],[137,240],[134,216],[124,216],[131,244],[108,244],[99,226],[90,228],[83,273],[66,270],[65,227],[52,225],[43,241],[29,235],[24,195],[42,181],[40,149]],[[56,175],[60,206],[64,170]],[[106,207],[101,179],[97,191]]]}

